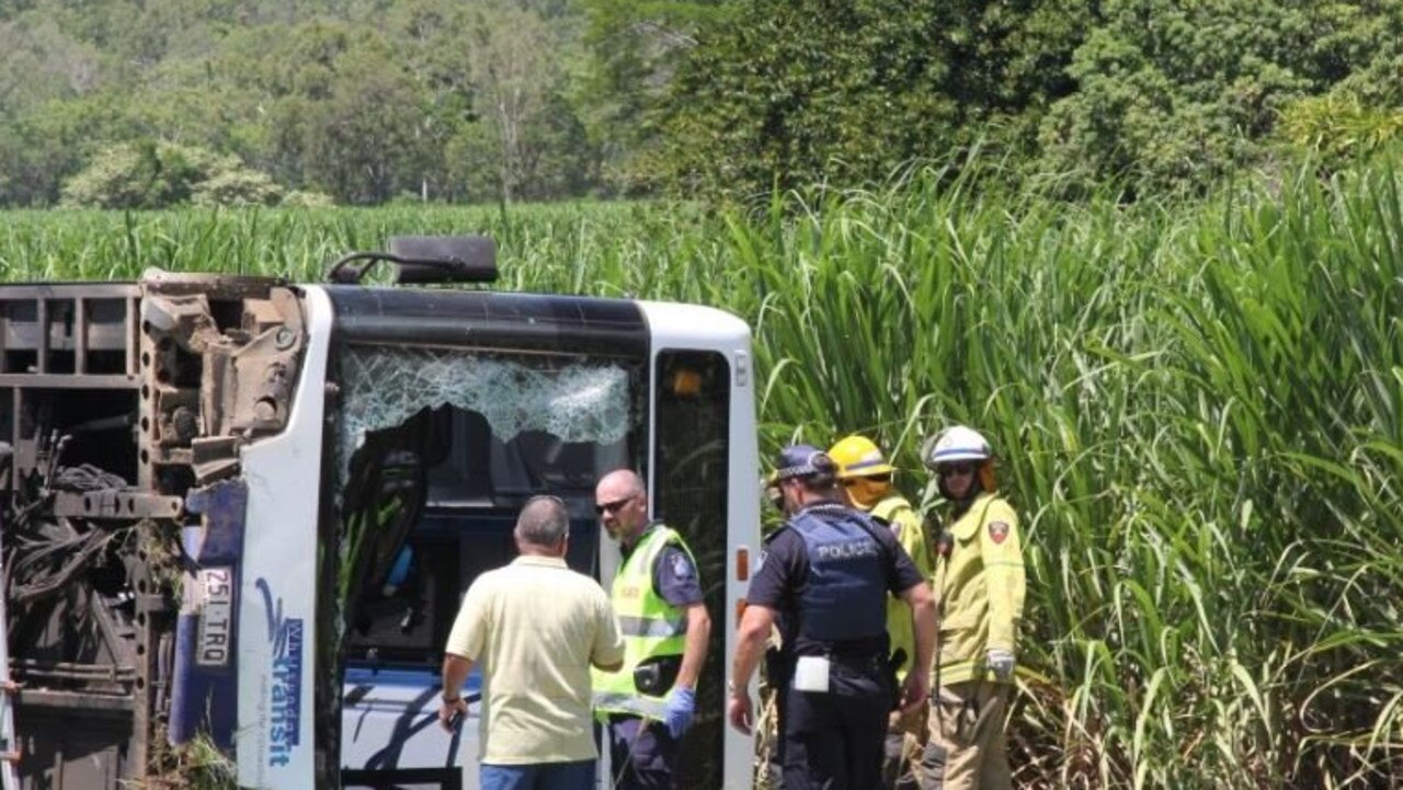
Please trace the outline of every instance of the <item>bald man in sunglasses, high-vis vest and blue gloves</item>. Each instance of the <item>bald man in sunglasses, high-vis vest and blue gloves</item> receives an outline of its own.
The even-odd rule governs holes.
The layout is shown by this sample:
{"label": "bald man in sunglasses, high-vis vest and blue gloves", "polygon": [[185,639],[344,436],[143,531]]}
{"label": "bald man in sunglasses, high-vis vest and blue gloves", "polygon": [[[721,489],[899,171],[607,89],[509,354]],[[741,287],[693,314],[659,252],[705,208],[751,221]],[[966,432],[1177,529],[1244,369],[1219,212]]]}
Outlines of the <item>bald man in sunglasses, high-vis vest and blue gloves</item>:
{"label": "bald man in sunglasses, high-vis vest and blue gloves", "polygon": [[631,470],[599,480],[595,512],[622,553],[610,599],[624,662],[593,675],[595,710],[609,724],[610,787],[672,790],[711,636],[696,560],[676,530],[648,519],[647,487]]}

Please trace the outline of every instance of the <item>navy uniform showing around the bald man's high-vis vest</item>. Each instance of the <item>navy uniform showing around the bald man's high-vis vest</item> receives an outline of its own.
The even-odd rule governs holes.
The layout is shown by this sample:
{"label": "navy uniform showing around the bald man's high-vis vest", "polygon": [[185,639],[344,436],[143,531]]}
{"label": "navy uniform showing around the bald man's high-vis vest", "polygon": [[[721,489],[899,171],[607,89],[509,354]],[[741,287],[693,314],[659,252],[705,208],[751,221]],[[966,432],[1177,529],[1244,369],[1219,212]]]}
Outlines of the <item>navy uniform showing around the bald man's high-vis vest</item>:
{"label": "navy uniform showing around the bald man's high-vis vest", "polygon": [[[650,523],[643,535],[661,522]],[[643,543],[643,535],[633,546],[622,547],[623,561],[629,561],[633,550]],[[668,603],[682,609],[702,603],[702,582],[696,565],[686,551],[666,546],[652,564],[652,588]],[[668,678],[661,685],[668,688],[680,668],[680,657],[668,667]],[[613,787],[671,790],[680,786],[680,777],[673,776],[678,739],[659,723],[627,714],[609,716],[609,765],[613,766]]]}

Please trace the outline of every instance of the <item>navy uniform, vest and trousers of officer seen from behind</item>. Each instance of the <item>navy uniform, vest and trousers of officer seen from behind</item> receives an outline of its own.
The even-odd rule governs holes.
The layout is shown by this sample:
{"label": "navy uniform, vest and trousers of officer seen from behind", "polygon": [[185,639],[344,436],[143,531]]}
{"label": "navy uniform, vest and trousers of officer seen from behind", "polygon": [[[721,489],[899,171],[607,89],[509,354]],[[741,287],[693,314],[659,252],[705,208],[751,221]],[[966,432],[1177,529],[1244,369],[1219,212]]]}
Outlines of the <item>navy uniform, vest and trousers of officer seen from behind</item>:
{"label": "navy uniform, vest and trousers of officer seen from behind", "polygon": [[[783,645],[769,671],[780,699],[786,790],[881,786],[887,716],[897,700],[887,595],[923,581],[890,529],[838,502],[801,509],[767,539],[746,599],[777,612]],[[826,693],[794,688],[801,657],[829,660]]]}

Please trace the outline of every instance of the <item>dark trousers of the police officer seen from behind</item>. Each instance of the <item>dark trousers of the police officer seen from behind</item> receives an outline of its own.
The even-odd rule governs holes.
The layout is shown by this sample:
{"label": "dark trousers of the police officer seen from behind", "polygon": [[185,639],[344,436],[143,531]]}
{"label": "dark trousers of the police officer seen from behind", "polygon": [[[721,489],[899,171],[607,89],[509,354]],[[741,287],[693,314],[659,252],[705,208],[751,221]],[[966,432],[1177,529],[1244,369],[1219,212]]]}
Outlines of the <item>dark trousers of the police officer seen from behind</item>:
{"label": "dark trousers of the police officer seen from behind", "polygon": [[881,787],[891,681],[875,662],[835,661],[828,683],[828,693],[786,689],[784,790]]}

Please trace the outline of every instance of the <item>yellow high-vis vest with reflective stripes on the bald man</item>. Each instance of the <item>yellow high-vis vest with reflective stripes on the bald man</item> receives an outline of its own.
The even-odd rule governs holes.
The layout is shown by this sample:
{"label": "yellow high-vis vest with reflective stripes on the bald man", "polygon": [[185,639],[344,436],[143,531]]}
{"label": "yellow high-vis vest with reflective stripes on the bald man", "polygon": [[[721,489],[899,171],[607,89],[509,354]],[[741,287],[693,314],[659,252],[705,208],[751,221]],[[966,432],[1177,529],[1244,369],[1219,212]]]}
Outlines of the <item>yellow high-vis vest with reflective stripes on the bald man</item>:
{"label": "yellow high-vis vest with reflective stripes on the bald man", "polygon": [[633,672],[650,658],[682,655],[686,647],[686,615],[652,587],[652,567],[668,546],[686,551],[696,567],[682,536],[659,523],[643,535],[615,575],[610,601],[623,636],[623,667],[617,672],[592,671],[593,704],[598,711],[661,718],[666,710],[662,697],[643,695],[634,688]]}

